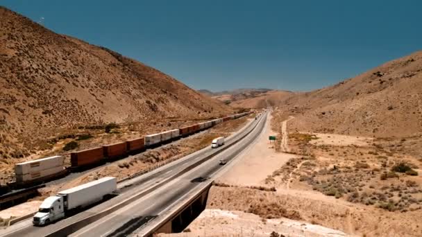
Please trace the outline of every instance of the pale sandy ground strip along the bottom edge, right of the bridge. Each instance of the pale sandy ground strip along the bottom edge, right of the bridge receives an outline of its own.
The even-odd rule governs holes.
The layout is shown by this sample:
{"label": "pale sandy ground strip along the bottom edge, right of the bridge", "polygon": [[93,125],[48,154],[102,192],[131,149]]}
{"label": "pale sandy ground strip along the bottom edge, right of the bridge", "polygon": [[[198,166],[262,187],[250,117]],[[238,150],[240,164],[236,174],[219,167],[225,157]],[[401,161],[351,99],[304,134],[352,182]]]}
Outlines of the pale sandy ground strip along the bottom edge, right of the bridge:
{"label": "pale sandy ground strip along the bottom edge, right of the bridge", "polygon": [[[347,236],[319,225],[289,220],[287,218],[262,219],[243,211],[205,209],[185,232],[171,236],[265,236],[272,232],[285,236]],[[160,234],[159,236],[168,236]]]}

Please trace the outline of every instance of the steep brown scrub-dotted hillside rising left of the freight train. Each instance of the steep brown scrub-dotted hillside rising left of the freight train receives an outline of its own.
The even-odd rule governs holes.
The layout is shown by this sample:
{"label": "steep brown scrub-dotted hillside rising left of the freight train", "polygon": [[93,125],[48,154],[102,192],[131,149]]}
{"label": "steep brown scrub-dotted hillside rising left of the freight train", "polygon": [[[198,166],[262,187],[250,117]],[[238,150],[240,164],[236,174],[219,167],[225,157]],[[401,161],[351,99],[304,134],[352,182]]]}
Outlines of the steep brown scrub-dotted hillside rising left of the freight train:
{"label": "steep brown scrub-dotted hillside rising left of the freight train", "polygon": [[67,128],[230,113],[164,73],[0,7],[0,157]]}

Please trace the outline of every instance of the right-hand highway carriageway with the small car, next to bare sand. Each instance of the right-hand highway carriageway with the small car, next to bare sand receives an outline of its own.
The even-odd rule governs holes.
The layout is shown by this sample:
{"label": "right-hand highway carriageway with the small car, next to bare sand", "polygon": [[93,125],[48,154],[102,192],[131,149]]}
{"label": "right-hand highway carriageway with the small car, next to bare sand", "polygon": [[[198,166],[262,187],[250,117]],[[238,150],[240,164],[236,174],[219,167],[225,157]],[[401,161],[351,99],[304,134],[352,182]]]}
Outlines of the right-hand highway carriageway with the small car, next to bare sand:
{"label": "right-hand highway carriageway with the small car, next to bare sand", "polygon": [[239,152],[255,141],[264,128],[266,116],[263,117],[262,120],[257,121],[257,123],[259,123],[253,132],[248,134],[248,136],[239,143],[236,143],[219,155],[205,161],[200,166],[185,173],[185,175],[158,188],[153,191],[153,193],[76,231],[71,236],[120,237],[127,236],[133,231],[140,231],[140,229],[149,224],[149,221],[162,215],[162,213],[178,204],[180,200],[186,198],[186,196],[189,195],[189,191],[200,186],[203,180],[213,179],[214,175],[224,167],[219,164],[219,159],[226,159],[229,164],[232,159],[235,159]]}

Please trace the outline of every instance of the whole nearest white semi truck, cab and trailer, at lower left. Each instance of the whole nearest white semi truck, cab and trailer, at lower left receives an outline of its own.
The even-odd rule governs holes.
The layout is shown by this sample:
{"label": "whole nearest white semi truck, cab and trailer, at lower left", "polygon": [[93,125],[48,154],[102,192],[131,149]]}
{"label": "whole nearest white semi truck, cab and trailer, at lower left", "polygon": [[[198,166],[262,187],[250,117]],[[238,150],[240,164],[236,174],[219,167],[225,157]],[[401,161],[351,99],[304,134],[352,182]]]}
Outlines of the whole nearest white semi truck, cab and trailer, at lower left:
{"label": "whole nearest white semi truck, cab and trailer, at lower left", "polygon": [[33,217],[33,224],[48,225],[50,222],[64,218],[68,211],[99,202],[105,195],[116,190],[117,179],[115,177],[103,177],[87,184],[60,191],[56,196],[51,196],[42,202],[40,209]]}

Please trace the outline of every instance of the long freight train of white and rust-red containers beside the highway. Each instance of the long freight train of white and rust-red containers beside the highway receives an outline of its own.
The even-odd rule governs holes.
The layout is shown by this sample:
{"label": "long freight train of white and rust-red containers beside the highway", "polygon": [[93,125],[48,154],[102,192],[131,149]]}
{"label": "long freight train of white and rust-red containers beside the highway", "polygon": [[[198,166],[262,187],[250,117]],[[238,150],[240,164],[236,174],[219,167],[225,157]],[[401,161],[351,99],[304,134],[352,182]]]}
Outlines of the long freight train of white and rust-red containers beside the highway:
{"label": "long freight train of white and rust-red containers beside the highway", "polygon": [[22,187],[28,186],[28,184],[40,184],[47,180],[65,175],[66,173],[71,172],[71,170],[86,169],[98,166],[104,162],[115,161],[122,157],[142,152],[146,148],[160,146],[163,143],[173,141],[174,139],[187,137],[196,132],[206,130],[214,125],[222,123],[223,121],[238,119],[251,113],[252,112],[244,112],[242,114],[226,116],[222,119],[214,119],[212,121],[198,123],[184,128],[178,128],[157,134],[149,134],[137,139],[71,152],[71,166],[68,168],[65,168],[64,157],[62,156],[47,157],[44,159],[16,164],[16,182],[12,185]]}

